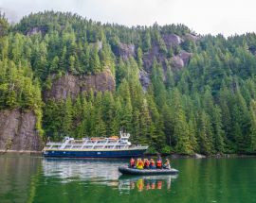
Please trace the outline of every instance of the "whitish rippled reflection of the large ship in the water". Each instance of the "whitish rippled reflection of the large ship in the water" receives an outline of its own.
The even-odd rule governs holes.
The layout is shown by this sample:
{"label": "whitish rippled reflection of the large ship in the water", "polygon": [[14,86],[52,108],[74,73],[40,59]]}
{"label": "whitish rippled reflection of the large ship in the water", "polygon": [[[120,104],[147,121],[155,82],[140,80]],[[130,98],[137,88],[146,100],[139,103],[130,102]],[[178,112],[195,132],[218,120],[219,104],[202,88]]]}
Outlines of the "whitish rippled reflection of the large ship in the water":
{"label": "whitish rippled reflection of the large ship in the water", "polygon": [[122,162],[115,160],[45,159],[43,170],[46,177],[61,178],[63,182],[80,179],[118,186],[120,163]]}

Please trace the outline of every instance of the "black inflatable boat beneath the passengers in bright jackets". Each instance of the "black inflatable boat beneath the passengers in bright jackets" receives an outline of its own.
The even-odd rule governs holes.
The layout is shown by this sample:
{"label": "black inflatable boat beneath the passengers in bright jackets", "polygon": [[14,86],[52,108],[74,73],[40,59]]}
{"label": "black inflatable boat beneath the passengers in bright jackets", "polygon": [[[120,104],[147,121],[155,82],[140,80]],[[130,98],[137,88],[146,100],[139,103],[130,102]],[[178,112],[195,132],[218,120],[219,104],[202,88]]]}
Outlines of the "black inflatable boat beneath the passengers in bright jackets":
{"label": "black inflatable boat beneath the passengers in bright jackets", "polygon": [[178,170],[172,169],[137,169],[128,168],[127,166],[119,166],[119,172],[123,175],[176,175]]}

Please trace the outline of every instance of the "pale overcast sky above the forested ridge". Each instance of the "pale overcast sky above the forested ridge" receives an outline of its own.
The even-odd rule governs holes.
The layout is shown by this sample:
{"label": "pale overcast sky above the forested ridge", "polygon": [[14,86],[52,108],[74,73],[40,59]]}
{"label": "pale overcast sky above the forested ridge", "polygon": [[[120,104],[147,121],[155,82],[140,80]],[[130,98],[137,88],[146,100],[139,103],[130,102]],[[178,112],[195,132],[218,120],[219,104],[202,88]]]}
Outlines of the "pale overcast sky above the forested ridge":
{"label": "pale overcast sky above the forested ridge", "polygon": [[121,25],[184,24],[198,34],[256,31],[256,0],[0,0],[12,21],[46,9]]}

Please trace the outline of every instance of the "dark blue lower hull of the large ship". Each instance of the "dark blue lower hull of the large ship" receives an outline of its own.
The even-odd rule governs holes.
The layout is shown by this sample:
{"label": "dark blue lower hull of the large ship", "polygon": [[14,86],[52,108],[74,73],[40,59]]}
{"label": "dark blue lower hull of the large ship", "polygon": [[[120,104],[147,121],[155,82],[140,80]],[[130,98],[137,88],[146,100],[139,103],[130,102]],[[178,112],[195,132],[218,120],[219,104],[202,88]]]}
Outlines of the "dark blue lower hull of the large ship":
{"label": "dark blue lower hull of the large ship", "polygon": [[133,150],[46,150],[45,157],[54,158],[131,158],[140,157],[146,149]]}

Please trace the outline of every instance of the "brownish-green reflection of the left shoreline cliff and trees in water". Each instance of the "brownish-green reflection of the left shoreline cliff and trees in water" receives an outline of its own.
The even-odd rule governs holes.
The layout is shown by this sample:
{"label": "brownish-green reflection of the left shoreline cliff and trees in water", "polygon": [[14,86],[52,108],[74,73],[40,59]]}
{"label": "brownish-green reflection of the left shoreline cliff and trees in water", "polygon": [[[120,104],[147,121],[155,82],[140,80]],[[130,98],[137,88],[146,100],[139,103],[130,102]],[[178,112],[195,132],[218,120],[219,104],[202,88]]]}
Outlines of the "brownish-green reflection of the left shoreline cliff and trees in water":
{"label": "brownish-green reflection of the left shoreline cliff and trees in water", "polygon": [[41,158],[0,155],[0,202],[30,202],[41,173]]}

